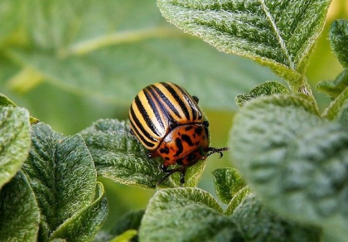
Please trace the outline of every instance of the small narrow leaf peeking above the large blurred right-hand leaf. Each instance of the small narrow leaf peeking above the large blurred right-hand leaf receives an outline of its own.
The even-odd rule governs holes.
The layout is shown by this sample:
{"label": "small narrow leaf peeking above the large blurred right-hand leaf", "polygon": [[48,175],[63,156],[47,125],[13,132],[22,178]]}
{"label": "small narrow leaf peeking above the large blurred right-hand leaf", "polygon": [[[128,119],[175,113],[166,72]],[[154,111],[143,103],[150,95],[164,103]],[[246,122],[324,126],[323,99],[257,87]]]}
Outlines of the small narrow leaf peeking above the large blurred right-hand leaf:
{"label": "small narrow leaf peeking above the large blurred right-hand leaf", "polygon": [[240,94],[235,98],[236,104],[241,108],[245,103],[256,97],[269,96],[272,94],[290,94],[284,85],[279,82],[264,82],[253,88],[250,92]]}

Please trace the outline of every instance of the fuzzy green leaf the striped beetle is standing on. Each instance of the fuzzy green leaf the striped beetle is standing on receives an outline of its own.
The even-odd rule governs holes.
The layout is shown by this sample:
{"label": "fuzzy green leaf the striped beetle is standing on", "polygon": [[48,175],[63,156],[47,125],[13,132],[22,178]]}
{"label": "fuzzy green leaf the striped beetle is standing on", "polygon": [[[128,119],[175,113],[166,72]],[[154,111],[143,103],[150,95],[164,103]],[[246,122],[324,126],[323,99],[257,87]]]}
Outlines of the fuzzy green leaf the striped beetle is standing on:
{"label": "fuzzy green leaf the striped beetle is standing on", "polygon": [[[164,173],[159,159],[147,157],[148,151],[130,133],[129,125],[117,119],[100,119],[81,132],[93,157],[97,173],[120,184],[142,188],[155,188]],[[204,162],[189,167],[185,186],[197,186]],[[170,181],[170,183],[169,183]],[[164,182],[167,186],[179,186],[179,174],[171,175]]]}

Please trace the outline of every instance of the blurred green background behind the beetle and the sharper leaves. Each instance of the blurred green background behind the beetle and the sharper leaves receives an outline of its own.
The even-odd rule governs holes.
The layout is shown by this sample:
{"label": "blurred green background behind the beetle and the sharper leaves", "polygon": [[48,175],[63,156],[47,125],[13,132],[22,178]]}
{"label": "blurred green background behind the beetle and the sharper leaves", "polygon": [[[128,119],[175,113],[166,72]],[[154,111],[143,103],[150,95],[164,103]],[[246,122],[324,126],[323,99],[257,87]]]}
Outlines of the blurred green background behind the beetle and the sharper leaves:
{"label": "blurred green background behind the beetle and the sharper leaves", "polygon": [[[348,19],[348,2],[333,0],[307,77],[315,90],[342,70],[327,41],[332,20]],[[216,51],[166,23],[156,2],[122,0],[0,1],[0,92],[53,130],[72,135],[99,118],[126,119],[140,89],[175,82],[200,98],[213,147],[226,145],[237,111],[234,98],[267,80],[267,68]],[[214,193],[211,172],[230,166],[209,157],[200,188]],[[105,228],[129,210],[145,208],[154,191],[102,180],[110,205]]]}

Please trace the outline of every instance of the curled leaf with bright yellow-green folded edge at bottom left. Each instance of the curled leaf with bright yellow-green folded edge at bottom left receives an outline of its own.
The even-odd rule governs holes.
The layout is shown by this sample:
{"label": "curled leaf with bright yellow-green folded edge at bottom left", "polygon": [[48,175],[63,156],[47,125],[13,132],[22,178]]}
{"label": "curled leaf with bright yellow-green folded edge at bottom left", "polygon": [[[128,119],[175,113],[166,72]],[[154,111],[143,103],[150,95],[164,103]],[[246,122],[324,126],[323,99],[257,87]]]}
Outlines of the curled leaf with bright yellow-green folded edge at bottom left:
{"label": "curled leaf with bright yellow-green folded edge at bottom left", "polygon": [[92,241],[108,213],[104,187],[97,183],[96,199],[66,220],[51,235],[51,238],[65,238],[68,241]]}

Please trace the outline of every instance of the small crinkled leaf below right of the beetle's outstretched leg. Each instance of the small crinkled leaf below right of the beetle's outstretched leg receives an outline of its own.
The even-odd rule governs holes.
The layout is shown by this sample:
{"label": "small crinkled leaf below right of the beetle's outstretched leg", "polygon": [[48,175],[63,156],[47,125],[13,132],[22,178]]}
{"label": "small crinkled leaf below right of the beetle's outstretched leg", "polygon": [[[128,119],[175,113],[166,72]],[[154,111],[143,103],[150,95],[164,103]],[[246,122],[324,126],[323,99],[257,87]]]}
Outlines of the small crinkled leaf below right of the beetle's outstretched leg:
{"label": "small crinkled leaf below right of the beetle's outstretched leg", "polygon": [[213,171],[213,181],[217,196],[228,204],[245,187],[244,181],[234,168],[220,168]]}

